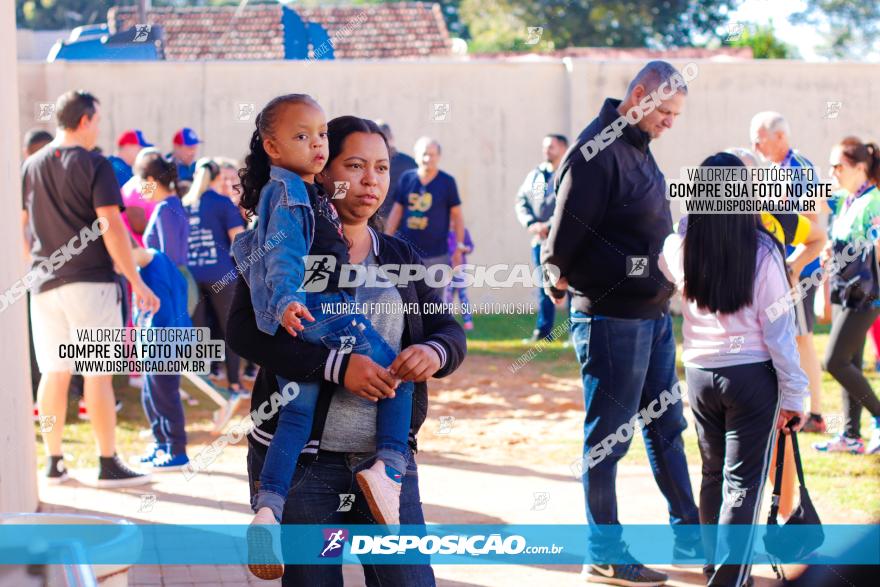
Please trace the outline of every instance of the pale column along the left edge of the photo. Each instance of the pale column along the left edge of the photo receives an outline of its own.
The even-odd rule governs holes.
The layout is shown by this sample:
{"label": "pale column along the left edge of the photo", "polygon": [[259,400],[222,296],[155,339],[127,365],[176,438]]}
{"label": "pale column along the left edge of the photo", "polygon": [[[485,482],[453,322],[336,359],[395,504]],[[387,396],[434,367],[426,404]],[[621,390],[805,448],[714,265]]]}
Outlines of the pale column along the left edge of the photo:
{"label": "pale column along the left edge of the photo", "polygon": [[[0,293],[22,277],[15,3],[0,3]],[[0,302],[0,307],[5,306]],[[37,456],[28,361],[27,301],[0,311],[0,512],[37,509]]]}

